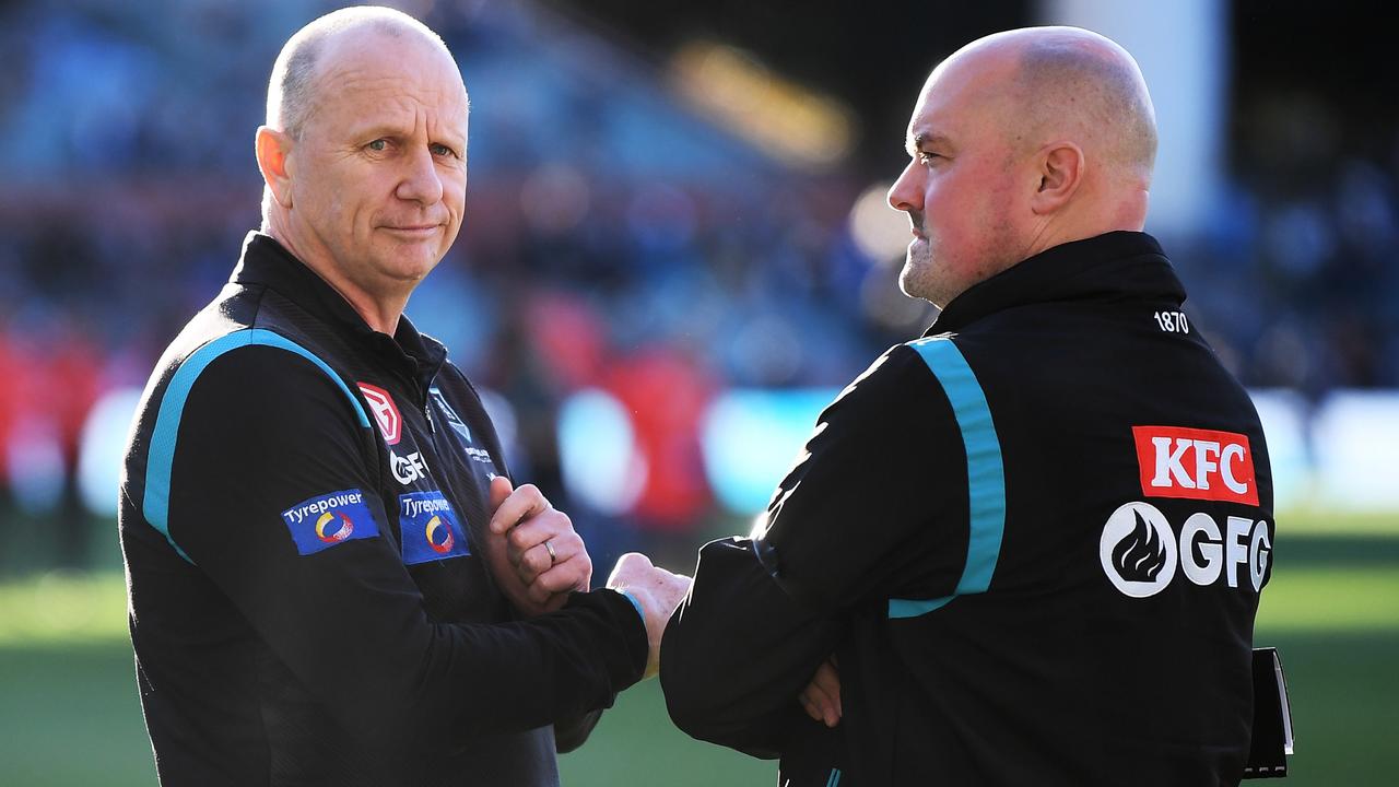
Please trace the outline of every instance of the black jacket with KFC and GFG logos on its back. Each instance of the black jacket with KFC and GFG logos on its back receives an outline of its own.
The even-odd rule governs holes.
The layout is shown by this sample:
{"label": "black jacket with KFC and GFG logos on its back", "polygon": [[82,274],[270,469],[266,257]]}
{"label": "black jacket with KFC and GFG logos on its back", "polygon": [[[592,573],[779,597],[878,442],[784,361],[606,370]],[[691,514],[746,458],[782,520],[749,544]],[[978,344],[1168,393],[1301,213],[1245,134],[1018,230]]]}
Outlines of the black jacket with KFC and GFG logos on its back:
{"label": "black jacket with KFC and GFG logos on its back", "polygon": [[[1258,415],[1175,316],[1184,297],[1154,239],[1112,232],[982,281],[928,332],[965,360],[999,445],[1003,534],[983,592],[958,591],[972,538],[950,399],[963,384],[935,377],[912,346],[887,351],[821,413],[755,541],[701,550],[662,650],[677,725],[781,756],[792,787],[1238,783],[1273,490]],[[1150,486],[1133,427],[1247,438],[1256,504]],[[1209,452],[1193,450],[1203,473]],[[1119,541],[1109,522],[1132,517],[1156,535]],[[1202,517],[1220,539],[1186,531]],[[1224,543],[1230,528],[1248,564]],[[1182,531],[1195,535],[1170,563]],[[1186,576],[1186,560],[1212,555],[1213,581]],[[1123,584],[1140,597],[1109,576],[1126,583],[1142,564],[1151,591]],[[943,601],[901,616],[891,599]],[[795,697],[831,653],[844,717],[825,731]],[[764,685],[743,679],[754,665]]]}

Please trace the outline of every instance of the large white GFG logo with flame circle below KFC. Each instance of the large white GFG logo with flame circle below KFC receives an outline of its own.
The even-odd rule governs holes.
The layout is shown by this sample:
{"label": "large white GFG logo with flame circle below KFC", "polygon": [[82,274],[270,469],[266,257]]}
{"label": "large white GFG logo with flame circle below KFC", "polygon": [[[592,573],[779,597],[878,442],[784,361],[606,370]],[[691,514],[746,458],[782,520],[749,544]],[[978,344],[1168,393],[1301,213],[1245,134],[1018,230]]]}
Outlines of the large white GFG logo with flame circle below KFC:
{"label": "large white GFG logo with flame circle below KFC", "polygon": [[1156,506],[1133,501],[1108,517],[1098,542],[1098,559],[1112,587],[1132,598],[1147,598],[1165,590],[1177,569],[1196,585],[1217,583],[1240,587],[1240,569],[1248,566],[1254,592],[1263,588],[1273,545],[1267,522],[1228,517],[1224,531],[1205,513],[1185,520],[1179,536]]}

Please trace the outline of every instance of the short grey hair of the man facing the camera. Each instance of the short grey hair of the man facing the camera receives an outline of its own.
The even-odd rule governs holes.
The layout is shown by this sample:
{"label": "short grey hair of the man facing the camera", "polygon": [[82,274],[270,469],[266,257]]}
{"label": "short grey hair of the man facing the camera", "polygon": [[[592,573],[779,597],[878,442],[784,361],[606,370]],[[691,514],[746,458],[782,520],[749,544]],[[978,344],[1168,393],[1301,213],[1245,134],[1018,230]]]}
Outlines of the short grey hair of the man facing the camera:
{"label": "short grey hair of the man facing the camera", "polygon": [[313,83],[326,42],[357,28],[395,38],[402,38],[406,32],[418,34],[448,52],[442,36],[432,28],[396,8],[357,6],[332,11],[297,31],[277,55],[267,83],[267,127],[301,139],[306,119],[315,109]]}

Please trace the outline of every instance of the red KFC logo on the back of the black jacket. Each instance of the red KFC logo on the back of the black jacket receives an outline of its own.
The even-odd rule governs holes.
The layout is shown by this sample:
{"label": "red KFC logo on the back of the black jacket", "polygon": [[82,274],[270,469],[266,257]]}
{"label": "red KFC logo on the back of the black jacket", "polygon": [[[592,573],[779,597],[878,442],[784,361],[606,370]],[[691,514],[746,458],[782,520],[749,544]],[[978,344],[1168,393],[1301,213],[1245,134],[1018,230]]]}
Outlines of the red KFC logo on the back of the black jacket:
{"label": "red KFC logo on the back of the black jacket", "polygon": [[1258,506],[1247,434],[1135,426],[1142,494]]}

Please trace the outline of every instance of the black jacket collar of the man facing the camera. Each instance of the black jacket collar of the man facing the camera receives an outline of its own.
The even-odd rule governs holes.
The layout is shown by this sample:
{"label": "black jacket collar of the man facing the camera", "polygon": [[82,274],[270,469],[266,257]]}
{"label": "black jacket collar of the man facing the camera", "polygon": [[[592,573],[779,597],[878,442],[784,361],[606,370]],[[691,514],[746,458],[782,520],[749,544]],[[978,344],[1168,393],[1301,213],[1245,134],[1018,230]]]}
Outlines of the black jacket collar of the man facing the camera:
{"label": "black jacket collar of the man facing the camera", "polygon": [[369,328],[334,287],[264,232],[248,232],[238,266],[228,280],[277,291],[313,318],[344,332],[353,343],[400,364],[402,371],[410,379],[421,381],[424,388],[446,360],[446,347],[420,333],[407,315],[399,318],[392,337]]}

